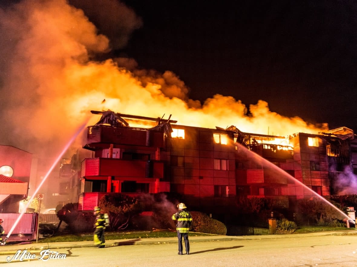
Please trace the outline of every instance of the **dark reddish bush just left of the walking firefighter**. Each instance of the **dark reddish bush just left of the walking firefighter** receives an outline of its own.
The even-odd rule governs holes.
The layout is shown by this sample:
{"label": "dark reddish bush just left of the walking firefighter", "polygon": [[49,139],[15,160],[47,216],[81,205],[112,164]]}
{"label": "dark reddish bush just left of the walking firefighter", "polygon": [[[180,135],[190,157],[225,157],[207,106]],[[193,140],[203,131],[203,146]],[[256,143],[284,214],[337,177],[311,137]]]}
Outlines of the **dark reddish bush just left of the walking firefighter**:
{"label": "dark reddish bush just left of the walking firefighter", "polygon": [[57,212],[57,217],[68,225],[72,233],[93,231],[94,214],[79,211],[78,203],[67,203]]}

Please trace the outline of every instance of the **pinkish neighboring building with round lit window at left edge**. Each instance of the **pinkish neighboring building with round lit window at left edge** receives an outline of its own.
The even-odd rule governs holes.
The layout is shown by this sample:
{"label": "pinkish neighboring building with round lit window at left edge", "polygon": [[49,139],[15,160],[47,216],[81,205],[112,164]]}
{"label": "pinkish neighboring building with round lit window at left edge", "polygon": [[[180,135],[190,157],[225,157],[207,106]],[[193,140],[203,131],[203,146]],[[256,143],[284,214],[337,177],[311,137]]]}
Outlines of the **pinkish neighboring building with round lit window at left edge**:
{"label": "pinkish neighboring building with round lit window at left edge", "polygon": [[0,213],[19,212],[27,198],[32,154],[13,146],[0,145]]}

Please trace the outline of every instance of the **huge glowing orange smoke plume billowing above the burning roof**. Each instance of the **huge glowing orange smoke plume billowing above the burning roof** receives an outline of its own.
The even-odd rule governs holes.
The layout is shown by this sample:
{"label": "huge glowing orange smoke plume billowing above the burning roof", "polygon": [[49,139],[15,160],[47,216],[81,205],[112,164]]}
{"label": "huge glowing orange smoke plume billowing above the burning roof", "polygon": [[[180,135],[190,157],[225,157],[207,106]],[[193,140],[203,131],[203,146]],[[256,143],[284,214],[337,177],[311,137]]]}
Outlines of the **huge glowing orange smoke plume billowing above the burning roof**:
{"label": "huge glowing orange smoke plume billowing above the burning roof", "polygon": [[[272,112],[263,100],[249,106],[249,115],[246,105],[231,96],[217,94],[201,105],[189,99],[177,75],[140,70],[135,59],[91,60],[111,47],[124,47],[142,21],[118,1],[85,2],[79,9],[70,3],[81,1],[24,0],[0,9],[1,143],[31,153],[46,147],[58,151],[90,110],[108,109],[152,117],[172,114],[182,125],[235,125],[263,134],[268,129],[274,135],[327,129]],[[94,116],[91,123],[97,120]]]}

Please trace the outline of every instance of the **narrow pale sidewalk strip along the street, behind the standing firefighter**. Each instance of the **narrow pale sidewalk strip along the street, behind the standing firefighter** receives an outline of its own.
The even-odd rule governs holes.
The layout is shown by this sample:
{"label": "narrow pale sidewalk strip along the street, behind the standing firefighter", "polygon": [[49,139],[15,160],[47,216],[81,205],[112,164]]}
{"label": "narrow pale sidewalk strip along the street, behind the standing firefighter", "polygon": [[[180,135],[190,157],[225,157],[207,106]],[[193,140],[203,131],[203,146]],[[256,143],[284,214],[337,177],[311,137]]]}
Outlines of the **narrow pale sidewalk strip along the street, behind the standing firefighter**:
{"label": "narrow pale sidewalk strip along the street, behind the standing firefighter", "polygon": [[[212,242],[212,241],[232,241],[232,240],[252,240],[252,239],[278,239],[278,238],[298,238],[306,236],[325,236],[325,235],[357,235],[357,230],[342,230],[342,231],[322,231],[311,232],[307,234],[283,234],[283,235],[246,235],[246,236],[193,236],[190,233],[190,242]],[[357,237],[357,236],[356,236]],[[176,244],[176,237],[158,237],[158,238],[142,238],[142,239],[117,239],[106,240],[106,246],[125,246],[125,245],[151,245],[151,244]],[[56,248],[74,248],[74,247],[94,247],[93,241],[75,241],[75,242],[51,242],[51,243],[36,243],[31,244],[6,244],[0,246],[0,255],[12,254],[17,250],[28,250],[30,252],[41,251],[46,249]]]}

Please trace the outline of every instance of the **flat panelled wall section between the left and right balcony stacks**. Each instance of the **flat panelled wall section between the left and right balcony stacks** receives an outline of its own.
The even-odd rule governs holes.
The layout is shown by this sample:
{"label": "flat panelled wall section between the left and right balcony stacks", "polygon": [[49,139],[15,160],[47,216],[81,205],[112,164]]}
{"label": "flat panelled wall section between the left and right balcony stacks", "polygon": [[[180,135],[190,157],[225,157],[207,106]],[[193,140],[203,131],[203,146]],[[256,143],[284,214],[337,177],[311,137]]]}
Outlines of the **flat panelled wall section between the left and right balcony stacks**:
{"label": "flat panelled wall section between the left and right balcony stacks", "polygon": [[[192,208],[208,212],[222,211],[221,207],[232,205],[236,195],[233,133],[178,125],[172,127],[185,130],[185,138],[169,139],[166,151],[161,153],[162,159],[167,161],[166,174],[171,192],[182,194]],[[228,135],[228,143],[215,143],[213,133]],[[177,158],[181,164],[176,163]],[[226,167],[215,169],[215,159]]]}

